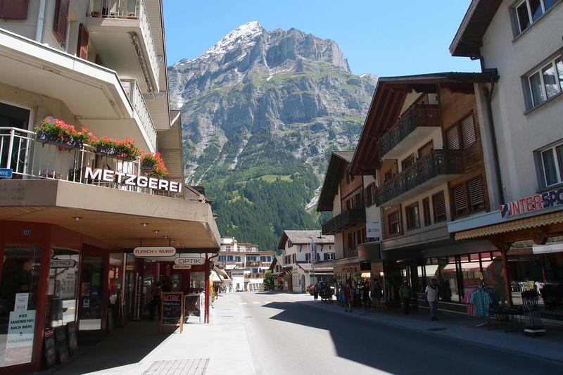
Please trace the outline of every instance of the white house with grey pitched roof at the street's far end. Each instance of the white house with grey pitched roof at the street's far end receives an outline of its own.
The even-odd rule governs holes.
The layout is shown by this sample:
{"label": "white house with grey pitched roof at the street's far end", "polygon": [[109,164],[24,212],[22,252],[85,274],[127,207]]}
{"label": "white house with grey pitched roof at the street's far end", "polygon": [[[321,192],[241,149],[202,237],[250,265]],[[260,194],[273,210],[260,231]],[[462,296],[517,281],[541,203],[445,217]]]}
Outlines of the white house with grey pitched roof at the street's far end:
{"label": "white house with grey pitched roof at the street's far end", "polygon": [[277,248],[283,250],[288,291],[303,293],[317,281],[332,281],[333,269],[323,262],[334,259],[334,236],[321,231],[285,230]]}

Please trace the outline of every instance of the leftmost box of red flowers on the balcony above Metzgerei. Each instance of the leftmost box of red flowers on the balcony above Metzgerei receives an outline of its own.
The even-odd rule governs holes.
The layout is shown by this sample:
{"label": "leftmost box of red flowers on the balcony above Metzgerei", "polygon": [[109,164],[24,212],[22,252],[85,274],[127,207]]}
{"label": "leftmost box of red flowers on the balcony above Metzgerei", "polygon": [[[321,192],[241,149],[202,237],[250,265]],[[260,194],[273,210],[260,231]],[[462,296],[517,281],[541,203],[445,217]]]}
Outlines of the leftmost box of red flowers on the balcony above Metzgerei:
{"label": "leftmost box of red flowers on the balcony above Metzgerei", "polygon": [[35,132],[37,132],[37,141],[66,149],[82,148],[84,143],[91,143],[96,139],[86,127],[81,127],[78,131],[72,125],[57,118],[42,120],[41,125],[35,127]]}

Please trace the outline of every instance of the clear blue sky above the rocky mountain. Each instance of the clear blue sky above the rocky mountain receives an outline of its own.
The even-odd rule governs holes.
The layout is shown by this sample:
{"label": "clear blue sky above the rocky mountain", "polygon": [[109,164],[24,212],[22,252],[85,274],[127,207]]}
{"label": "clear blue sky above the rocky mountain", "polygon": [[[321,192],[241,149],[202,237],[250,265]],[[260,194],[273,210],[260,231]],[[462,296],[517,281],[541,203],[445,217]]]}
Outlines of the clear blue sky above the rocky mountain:
{"label": "clear blue sky above the rocky mountain", "polygon": [[471,0],[164,0],[168,65],[196,58],[239,25],[333,39],[355,74],[480,71],[448,48]]}

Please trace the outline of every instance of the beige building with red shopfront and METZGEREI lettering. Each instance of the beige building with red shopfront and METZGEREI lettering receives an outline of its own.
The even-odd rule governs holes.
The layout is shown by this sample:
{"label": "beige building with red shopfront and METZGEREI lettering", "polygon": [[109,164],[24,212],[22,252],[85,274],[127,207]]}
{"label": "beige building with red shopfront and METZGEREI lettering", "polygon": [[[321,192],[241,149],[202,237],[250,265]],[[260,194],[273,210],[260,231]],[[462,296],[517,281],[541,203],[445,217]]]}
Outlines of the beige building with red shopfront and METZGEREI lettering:
{"label": "beige building with red shopfront and METZGEREI lettering", "polygon": [[0,66],[0,372],[37,371],[46,333],[143,318],[156,281],[209,302],[220,235],[184,186],[162,1],[0,1]]}

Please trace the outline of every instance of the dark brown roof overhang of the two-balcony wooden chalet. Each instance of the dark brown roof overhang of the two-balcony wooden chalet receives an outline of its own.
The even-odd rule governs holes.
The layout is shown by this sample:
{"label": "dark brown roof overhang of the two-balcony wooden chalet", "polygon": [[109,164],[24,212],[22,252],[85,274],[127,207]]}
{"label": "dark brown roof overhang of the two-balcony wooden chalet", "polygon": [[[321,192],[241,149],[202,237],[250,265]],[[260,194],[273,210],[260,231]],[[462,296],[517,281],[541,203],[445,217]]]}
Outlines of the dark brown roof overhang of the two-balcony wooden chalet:
{"label": "dark brown roof overhang of the two-balcony wooden chalet", "polygon": [[443,72],[379,78],[358,146],[350,163],[350,173],[375,174],[379,169],[381,160],[379,160],[377,141],[397,122],[407,94],[410,92],[433,94],[440,88],[446,88],[452,92],[473,94],[474,83],[497,80],[497,70],[487,70],[482,73]]}

